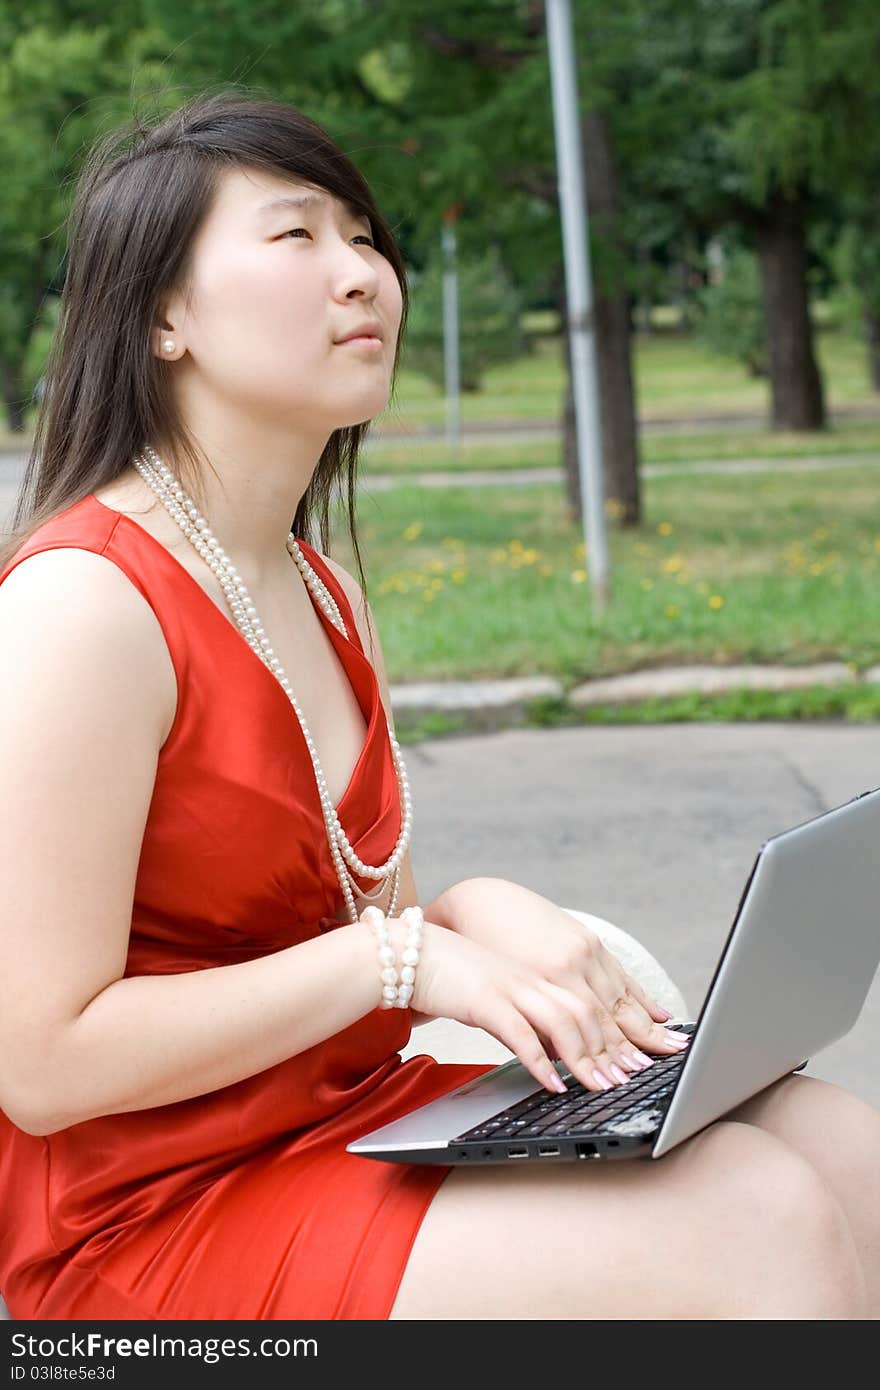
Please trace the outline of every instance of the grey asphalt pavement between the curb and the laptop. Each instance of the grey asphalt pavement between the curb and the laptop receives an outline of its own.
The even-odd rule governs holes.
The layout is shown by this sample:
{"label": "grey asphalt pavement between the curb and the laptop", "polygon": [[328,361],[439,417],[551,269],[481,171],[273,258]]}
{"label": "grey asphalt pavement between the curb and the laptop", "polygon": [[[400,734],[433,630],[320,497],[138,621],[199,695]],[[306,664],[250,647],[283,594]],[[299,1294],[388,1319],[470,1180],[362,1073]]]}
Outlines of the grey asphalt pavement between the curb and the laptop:
{"label": "grey asphalt pavement between the curb and the laptop", "polygon": [[[880,785],[880,728],[834,724],[509,730],[403,756],[421,902],[474,876],[521,883],[638,937],[694,1013],[760,844]],[[876,977],[852,1031],[806,1070],[880,1108],[879,1056]]]}

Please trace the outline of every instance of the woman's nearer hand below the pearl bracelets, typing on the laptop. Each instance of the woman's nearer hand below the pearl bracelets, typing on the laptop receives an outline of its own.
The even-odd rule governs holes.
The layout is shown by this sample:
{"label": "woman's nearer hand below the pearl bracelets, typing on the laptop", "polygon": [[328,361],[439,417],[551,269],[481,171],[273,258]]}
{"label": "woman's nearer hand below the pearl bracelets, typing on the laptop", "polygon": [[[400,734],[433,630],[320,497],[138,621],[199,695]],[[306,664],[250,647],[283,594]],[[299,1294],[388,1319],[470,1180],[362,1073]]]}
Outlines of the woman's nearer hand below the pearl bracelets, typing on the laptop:
{"label": "woman's nearer hand below the pearl bracelets, typing on the laptop", "polygon": [[[403,923],[392,919],[389,927],[399,951]],[[591,942],[577,956],[577,965],[584,962],[594,977],[603,976],[601,952],[594,952]],[[646,1026],[641,1022],[642,1005],[637,1006],[639,1015],[626,1020],[624,1033],[592,987],[582,977],[576,979],[577,965],[563,966],[574,987],[559,984],[546,970],[425,920],[412,1006],[420,1013],[485,1029],[519,1056],[541,1086],[555,1091],[563,1091],[564,1084],[552,1056],[587,1090],[605,1091],[651,1065],[651,1058],[633,1047],[628,1031],[653,1044],[652,1030],[656,1030],[656,1051],[677,1051],[669,1030],[651,1019]]]}

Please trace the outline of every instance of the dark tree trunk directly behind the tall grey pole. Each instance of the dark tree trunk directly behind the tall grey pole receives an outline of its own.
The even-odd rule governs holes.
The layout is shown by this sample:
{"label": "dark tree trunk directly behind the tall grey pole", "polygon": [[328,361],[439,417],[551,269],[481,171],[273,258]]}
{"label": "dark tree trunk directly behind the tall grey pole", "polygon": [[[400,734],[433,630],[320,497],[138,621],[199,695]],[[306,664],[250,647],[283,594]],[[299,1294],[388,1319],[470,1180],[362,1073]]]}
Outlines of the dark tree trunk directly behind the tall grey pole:
{"label": "dark tree trunk directly behind the tall grey pole", "polygon": [[[638,525],[641,493],[638,478],[638,438],[630,336],[630,300],[620,267],[623,246],[619,231],[617,179],[608,120],[591,111],[581,125],[589,224],[601,239],[605,272],[596,274],[594,257],[594,329],[602,435],[602,471],[605,505],[620,525]],[[576,517],[582,516],[580,473],[574,435],[574,396],[567,332],[564,291],[562,295],[563,341],[567,363],[567,389],[563,425],[563,463],[566,493]],[[610,506],[609,506],[610,503]]]}

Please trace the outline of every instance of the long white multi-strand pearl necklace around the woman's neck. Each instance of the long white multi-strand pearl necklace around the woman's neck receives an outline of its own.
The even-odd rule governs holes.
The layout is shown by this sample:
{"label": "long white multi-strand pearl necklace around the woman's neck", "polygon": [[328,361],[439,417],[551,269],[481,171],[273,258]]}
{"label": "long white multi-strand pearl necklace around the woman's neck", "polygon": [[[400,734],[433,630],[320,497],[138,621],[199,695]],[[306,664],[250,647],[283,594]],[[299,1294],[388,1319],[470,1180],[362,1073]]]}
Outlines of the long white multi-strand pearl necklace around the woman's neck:
{"label": "long white multi-strand pearl necklace around the woman's neck", "polygon": [[[331,859],[336,870],[336,877],[339,878],[342,897],[345,898],[349,909],[350,920],[359,920],[355,892],[352,890],[366,899],[378,898],[384,892],[385,884],[389,878],[393,878],[393,887],[391,901],[388,903],[388,916],[393,916],[400,883],[400,863],[410,842],[413,803],[410,798],[406,766],[400,753],[400,745],[395,738],[391,723],[386,719],[388,738],[398,776],[398,787],[400,790],[403,824],[391,858],[384,865],[366,865],[352,849],[348,835],[342,828],[335,806],[331,801],[329,791],[327,790],[327,781],[324,780],[324,771],[321,769],[314,741],[309,733],[309,726],[306,724],[303,712],[296,702],[296,696],[293,695],[285,670],[275,656],[274,649],[270,646],[266,630],[263,628],[257,610],[250,600],[245,581],[229,560],[224,548],[213,535],[204,517],[199,514],[195,502],[192,502],[192,499],[184,492],[181,484],[171,470],[165,467],[156,450],[152,449],[150,445],[146,445],[143,453],[133,456],[132,463],[143,481],[164,505],[165,510],[174,517],[184,535],[193,543],[199,555],[204,559],[209,569],[217,575],[242,637],[256,652],[263,664],[267,666],[268,670],[278,678],[296,712],[296,717],[299,719],[300,728],[303,731],[303,738],[306,739],[306,748],[309,749],[309,755],[311,758],[318,795],[321,798],[321,810],[324,812],[324,826],[327,828]],[[316,573],[313,566],[309,564],[292,531],[288,535],[286,548],[293,563],[300,571],[309,592],[313,595],[323,612],[327,613],[334,627],[348,639],[349,634],[332,594],[329,594],[327,585]],[[355,883],[352,869],[363,878],[378,878],[381,883],[373,891],[364,892],[364,890]]]}

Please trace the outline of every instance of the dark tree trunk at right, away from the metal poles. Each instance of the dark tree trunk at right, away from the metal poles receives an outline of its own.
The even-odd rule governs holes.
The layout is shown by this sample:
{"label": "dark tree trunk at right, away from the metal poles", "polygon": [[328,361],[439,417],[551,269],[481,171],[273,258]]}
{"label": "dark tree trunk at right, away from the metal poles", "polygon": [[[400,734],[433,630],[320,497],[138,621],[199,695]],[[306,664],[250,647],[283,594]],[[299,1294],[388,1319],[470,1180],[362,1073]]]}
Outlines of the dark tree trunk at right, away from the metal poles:
{"label": "dark tree trunk at right, away from the metal poles", "polygon": [[773,430],[824,428],[806,286],[805,202],[773,195],[756,225]]}

